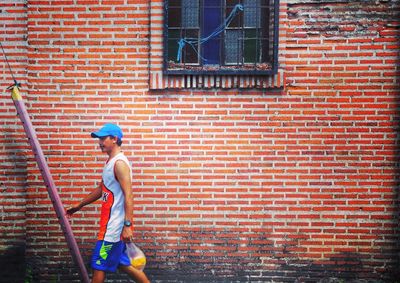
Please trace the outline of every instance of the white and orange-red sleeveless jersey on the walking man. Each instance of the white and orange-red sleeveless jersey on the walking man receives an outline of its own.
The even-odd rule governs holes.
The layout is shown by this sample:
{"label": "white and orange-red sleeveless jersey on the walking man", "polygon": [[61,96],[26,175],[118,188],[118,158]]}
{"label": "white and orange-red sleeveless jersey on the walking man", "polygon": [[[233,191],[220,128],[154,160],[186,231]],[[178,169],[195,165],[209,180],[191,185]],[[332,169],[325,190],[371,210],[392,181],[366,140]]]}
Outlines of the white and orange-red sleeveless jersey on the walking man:
{"label": "white and orange-red sleeveless jersey on the walking man", "polygon": [[114,170],[115,163],[118,160],[122,160],[128,165],[130,176],[132,176],[132,168],[122,152],[108,160],[104,166],[98,240],[107,242],[120,241],[122,229],[124,228],[125,197]]}

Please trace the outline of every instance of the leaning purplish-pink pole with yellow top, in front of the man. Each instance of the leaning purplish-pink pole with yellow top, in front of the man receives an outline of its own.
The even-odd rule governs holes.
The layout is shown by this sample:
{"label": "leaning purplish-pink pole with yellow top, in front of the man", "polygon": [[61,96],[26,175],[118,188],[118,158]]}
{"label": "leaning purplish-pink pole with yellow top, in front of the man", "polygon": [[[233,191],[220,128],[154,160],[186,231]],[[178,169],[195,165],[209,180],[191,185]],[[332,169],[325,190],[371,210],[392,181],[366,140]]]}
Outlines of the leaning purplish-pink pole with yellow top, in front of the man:
{"label": "leaning purplish-pink pole with yellow top, in front of the man", "polygon": [[29,144],[33,149],[33,153],[39,166],[40,173],[42,174],[51,202],[53,203],[54,210],[57,214],[61,229],[64,233],[65,239],[67,240],[68,248],[71,252],[75,264],[78,266],[81,282],[89,283],[90,279],[85,264],[83,262],[82,255],[75,241],[74,234],[72,233],[71,225],[69,224],[69,221],[65,215],[64,206],[61,202],[60,196],[58,195],[53,177],[51,176],[42,148],[40,147],[40,143],[37,139],[35,129],[32,126],[32,122],[26,110],[25,103],[19,93],[18,84],[15,82],[15,85],[11,86],[9,89],[11,89],[12,100],[14,102],[15,108],[17,109],[19,118],[21,119],[25,133],[28,137]]}

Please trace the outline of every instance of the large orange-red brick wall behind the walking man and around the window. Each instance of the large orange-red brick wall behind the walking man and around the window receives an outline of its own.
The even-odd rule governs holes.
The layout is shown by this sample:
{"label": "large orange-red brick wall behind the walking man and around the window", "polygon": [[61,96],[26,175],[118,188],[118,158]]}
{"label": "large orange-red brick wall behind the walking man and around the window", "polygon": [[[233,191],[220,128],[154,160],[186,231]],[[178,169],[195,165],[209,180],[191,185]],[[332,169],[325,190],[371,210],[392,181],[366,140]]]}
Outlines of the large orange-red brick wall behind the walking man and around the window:
{"label": "large orange-red brick wall behind the walking man and around the window", "polygon": [[[282,1],[284,87],[261,90],[149,90],[148,1],[5,3],[2,37],[66,205],[99,183],[89,133],[124,128],[153,282],[397,278],[399,1]],[[26,235],[32,281],[78,281],[6,95],[0,110],[2,251]],[[85,259],[98,213],[72,219]]]}

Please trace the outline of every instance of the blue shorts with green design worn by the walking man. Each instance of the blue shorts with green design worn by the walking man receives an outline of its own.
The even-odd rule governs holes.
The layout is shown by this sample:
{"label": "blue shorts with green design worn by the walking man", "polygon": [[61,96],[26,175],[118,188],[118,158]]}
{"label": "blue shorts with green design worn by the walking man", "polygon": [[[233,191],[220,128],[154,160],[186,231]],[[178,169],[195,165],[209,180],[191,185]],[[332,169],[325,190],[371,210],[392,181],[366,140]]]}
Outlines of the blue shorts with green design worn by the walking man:
{"label": "blue shorts with green design worn by the walking man", "polygon": [[115,272],[119,265],[130,265],[123,241],[116,243],[97,241],[93,250],[91,266],[93,269]]}

